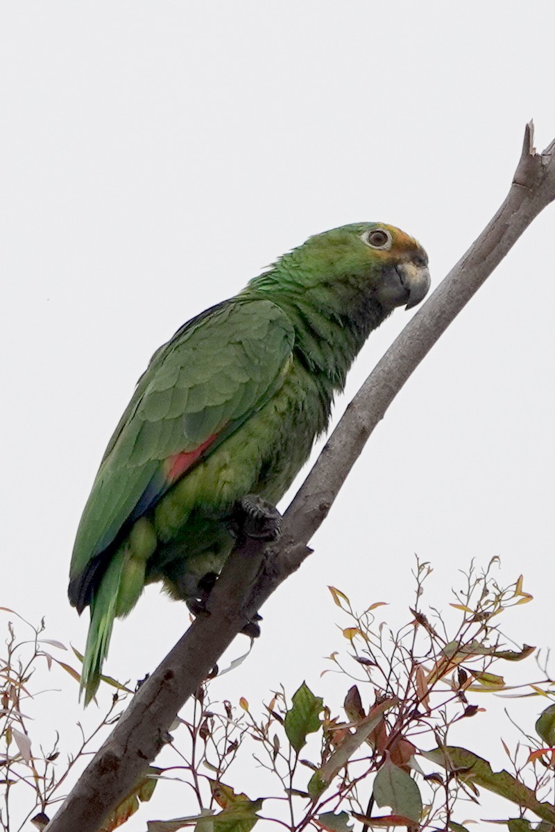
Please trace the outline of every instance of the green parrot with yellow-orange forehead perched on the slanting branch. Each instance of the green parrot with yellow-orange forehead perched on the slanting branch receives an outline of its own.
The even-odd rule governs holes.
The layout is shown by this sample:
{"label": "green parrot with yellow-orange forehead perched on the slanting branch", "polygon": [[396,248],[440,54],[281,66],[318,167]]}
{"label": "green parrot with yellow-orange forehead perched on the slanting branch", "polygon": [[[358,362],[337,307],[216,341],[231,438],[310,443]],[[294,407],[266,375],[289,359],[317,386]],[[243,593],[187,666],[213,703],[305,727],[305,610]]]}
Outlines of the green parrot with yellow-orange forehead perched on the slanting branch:
{"label": "green parrot with yellow-orange forehead perched on the slanting branch", "polygon": [[234,546],[237,512],[280,500],[369,333],[428,290],[416,240],[383,223],[344,225],[310,237],[157,350],[108,443],[73,548],[69,598],[79,613],[91,607],[86,704],[114,618],[154,581],[195,609]]}

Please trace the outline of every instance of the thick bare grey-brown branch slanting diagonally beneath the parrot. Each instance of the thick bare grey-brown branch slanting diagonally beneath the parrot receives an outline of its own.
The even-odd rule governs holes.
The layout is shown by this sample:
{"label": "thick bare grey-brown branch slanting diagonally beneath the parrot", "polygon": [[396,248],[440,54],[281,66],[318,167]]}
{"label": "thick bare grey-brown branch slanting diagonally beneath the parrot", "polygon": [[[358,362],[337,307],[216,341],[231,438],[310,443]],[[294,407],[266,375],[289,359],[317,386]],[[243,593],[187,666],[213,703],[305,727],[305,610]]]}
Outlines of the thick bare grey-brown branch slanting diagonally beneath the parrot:
{"label": "thick bare grey-brown branch slanting diagonally beneath the parrot", "polygon": [[161,750],[167,731],[235,635],[310,554],[320,527],[364,443],[410,374],[518,237],[555,199],[555,141],[541,154],[526,126],[508,196],[493,220],[410,320],[349,404],[284,516],[278,544],[247,540],[216,582],[210,615],[198,617],[131,701],[46,832],[96,832]]}

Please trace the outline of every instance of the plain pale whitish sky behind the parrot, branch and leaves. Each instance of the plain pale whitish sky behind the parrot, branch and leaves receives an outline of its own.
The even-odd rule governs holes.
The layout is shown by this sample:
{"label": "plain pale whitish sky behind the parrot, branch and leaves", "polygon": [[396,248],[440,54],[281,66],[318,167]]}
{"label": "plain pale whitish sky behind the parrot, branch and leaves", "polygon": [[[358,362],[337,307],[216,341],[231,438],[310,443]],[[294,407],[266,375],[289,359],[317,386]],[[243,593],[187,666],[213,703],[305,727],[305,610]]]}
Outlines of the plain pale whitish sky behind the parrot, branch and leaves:
{"label": "plain pale whitish sky behind the parrot, branch and leaves", "polygon": [[[503,200],[526,121],[539,150],[555,136],[554,25],[551,2],[507,0],[0,4],[0,606],[84,645],[66,596],[77,522],[136,379],[186,319],[356,220],[416,236],[438,285]],[[552,207],[395,399],[214,695],[255,704],[306,679],[328,696],[322,656],[344,621],[326,586],[403,622],[414,552],[440,607],[470,558],[500,556],[500,582],[524,572],[535,598],[505,629],[553,644],[554,230]],[[410,314],[370,337],[336,416]],[[117,622],[107,671],[144,676],[186,620],[150,587]],[[45,682],[67,695],[34,706],[42,739],[53,724],[76,735],[69,682]],[[485,704],[453,741],[472,728],[506,765],[503,702]],[[528,703],[530,729],[541,707]],[[178,786],[160,795],[126,829],[194,810]]]}

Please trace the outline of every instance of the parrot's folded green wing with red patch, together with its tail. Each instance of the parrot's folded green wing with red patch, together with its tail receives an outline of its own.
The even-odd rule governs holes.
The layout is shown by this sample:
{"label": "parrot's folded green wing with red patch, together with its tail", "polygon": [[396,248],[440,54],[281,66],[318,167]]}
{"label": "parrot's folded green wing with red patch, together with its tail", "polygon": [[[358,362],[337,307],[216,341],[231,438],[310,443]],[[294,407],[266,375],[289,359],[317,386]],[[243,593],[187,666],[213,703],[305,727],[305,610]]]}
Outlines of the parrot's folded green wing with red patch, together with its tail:
{"label": "parrot's folded green wing with red patch, together with its tail", "polygon": [[228,301],[151,360],[102,460],[72,557],[70,599],[91,605],[82,686],[90,701],[115,617],[141,595],[156,529],[144,516],[283,384],[294,343],[270,300]]}

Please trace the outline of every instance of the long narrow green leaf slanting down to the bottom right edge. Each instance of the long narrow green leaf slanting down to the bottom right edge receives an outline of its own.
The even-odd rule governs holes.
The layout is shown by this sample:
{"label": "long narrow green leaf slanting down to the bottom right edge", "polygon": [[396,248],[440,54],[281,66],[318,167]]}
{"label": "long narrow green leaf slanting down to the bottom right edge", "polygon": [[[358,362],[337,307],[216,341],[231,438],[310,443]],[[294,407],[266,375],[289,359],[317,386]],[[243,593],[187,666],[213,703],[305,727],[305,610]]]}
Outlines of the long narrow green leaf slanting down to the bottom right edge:
{"label": "long narrow green leaf slanting down to the bottom right edge", "polygon": [[483,760],[466,748],[444,745],[431,751],[420,752],[427,760],[443,765],[447,771],[458,774],[465,783],[481,785],[495,795],[533,811],[539,818],[555,824],[555,809],[548,803],[540,803],[532,789],[516,780],[508,771],[492,771],[488,760]]}

